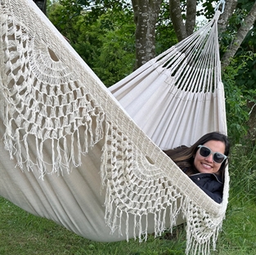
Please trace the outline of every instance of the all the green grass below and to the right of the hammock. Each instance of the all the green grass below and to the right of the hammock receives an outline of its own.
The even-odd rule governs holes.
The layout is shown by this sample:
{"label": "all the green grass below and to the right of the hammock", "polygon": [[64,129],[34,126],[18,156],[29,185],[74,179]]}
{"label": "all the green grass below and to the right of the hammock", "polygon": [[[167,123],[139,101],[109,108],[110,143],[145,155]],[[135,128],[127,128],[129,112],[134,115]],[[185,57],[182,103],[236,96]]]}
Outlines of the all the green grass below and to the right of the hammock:
{"label": "all the green grass below and to the right of the hammock", "polygon": [[[236,146],[232,151],[230,202],[226,220],[213,255],[256,254],[256,188],[255,148]],[[186,248],[183,226],[173,235],[149,236],[146,242],[98,243],[58,226],[55,222],[35,217],[0,197],[1,255],[182,255]]]}

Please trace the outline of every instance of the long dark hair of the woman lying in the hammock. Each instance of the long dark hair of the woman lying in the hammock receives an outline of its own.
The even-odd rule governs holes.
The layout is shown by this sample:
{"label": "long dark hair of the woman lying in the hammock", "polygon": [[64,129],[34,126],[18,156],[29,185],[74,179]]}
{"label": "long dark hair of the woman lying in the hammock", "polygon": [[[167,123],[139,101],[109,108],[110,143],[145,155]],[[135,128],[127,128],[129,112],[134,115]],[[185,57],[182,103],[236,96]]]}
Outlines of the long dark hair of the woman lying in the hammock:
{"label": "long dark hair of the woman lying in the hammock", "polygon": [[[223,135],[220,132],[209,132],[202,136],[198,141],[195,142],[191,147],[186,147],[185,145],[181,145],[175,149],[164,150],[164,153],[167,154],[171,159],[173,159],[174,163],[181,169],[186,168],[186,173],[188,175],[194,174],[198,172],[194,167],[194,156],[196,151],[198,150],[198,145],[204,145],[207,141],[222,141],[225,144],[225,152],[224,154],[228,156],[230,150],[230,142],[228,141],[227,136]],[[221,167],[219,168],[219,173],[224,177],[225,168],[227,166],[227,159],[222,162]]]}

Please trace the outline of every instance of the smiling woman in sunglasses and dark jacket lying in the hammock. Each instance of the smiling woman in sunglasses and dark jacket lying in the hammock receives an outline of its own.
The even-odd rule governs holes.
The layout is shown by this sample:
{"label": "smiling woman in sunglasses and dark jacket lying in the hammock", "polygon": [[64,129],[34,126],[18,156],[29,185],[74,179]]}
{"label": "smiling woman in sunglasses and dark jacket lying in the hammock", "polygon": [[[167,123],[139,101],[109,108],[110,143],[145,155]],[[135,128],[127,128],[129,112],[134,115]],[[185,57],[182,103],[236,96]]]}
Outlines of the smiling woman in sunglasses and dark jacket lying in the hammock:
{"label": "smiling woman in sunglasses and dark jacket lying in the hammock", "polygon": [[227,136],[219,132],[210,132],[191,147],[182,145],[164,152],[195,184],[220,204],[229,149]]}

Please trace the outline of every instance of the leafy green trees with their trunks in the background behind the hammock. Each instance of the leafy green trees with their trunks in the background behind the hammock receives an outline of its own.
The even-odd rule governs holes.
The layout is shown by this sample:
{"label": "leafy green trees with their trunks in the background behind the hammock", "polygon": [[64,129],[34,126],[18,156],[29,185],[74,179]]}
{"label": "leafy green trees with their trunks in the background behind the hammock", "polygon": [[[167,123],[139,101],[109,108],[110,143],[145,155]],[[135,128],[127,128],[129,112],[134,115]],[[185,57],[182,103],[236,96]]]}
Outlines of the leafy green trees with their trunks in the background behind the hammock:
{"label": "leafy green trees with their trunks in the background behind the hammock", "polygon": [[[195,17],[204,15],[211,19],[215,7],[222,3],[214,0],[55,1],[61,6],[55,12],[49,11],[53,23],[107,86],[192,34],[197,29]],[[222,7],[220,4],[221,10]],[[252,112],[247,105],[255,105],[255,8],[254,0],[226,0],[218,22],[228,129],[235,134],[236,141],[246,132],[245,123]]]}

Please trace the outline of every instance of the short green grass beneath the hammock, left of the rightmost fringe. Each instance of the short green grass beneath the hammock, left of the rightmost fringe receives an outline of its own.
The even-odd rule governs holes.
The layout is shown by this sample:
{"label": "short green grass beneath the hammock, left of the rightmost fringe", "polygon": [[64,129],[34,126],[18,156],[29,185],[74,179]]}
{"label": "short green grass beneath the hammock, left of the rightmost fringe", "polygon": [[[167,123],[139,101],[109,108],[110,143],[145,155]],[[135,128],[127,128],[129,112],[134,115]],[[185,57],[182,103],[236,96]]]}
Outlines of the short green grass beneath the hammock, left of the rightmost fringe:
{"label": "short green grass beneath the hammock, left of the rightmost fringe", "polygon": [[[175,238],[150,235],[147,242],[98,243],[84,239],[58,226],[55,222],[36,217],[0,197],[0,254],[1,255],[57,255],[57,254],[172,254],[182,255],[186,248],[185,232],[177,229]],[[174,231],[174,233],[176,233]]]}

